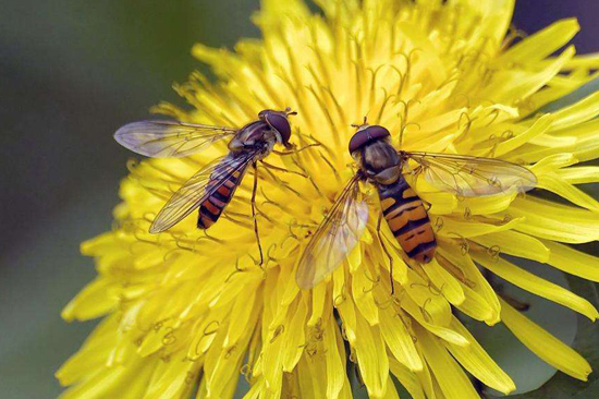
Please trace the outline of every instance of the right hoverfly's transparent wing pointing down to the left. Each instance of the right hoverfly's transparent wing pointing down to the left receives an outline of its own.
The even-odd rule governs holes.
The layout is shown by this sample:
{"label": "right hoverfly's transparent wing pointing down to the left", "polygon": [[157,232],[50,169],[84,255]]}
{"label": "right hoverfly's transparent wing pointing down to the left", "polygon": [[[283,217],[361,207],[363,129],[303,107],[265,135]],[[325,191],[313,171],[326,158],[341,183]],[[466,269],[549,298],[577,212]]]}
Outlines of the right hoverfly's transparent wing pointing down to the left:
{"label": "right hoverfly's transparent wing pointing down to the left", "polygon": [[295,276],[301,289],[310,289],[333,271],[356,245],[368,220],[366,202],[358,201],[359,178],[345,186],[304,250]]}

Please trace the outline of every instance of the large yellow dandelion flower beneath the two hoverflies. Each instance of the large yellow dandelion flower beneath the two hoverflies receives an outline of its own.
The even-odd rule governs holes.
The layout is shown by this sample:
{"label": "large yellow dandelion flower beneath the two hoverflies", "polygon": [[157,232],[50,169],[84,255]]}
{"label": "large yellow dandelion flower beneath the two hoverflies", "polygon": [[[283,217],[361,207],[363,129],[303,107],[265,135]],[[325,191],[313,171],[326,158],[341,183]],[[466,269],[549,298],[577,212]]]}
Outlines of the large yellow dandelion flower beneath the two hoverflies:
{"label": "large yellow dandelion flower beneath the two hoverflies", "polygon": [[[577,184],[599,169],[599,94],[554,112],[542,107],[588,82],[599,62],[566,46],[578,31],[558,22],[516,41],[513,0],[264,0],[262,39],[235,51],[196,45],[216,83],[199,73],[175,87],[192,106],[156,111],[180,121],[241,126],[266,108],[298,111],[292,142],[319,147],[268,159],[306,174],[262,170],[257,195],[264,270],[245,179],[207,231],[188,217],[148,233],[158,210],[200,167],[227,152],[130,165],[115,227],[82,245],[98,277],[64,310],[68,321],[103,317],[57,373],[63,398],[351,398],[347,362],[371,398],[396,398],[394,376],[416,398],[478,398],[467,371],[502,392],[515,389],[454,315],[504,323],[533,352],[586,379],[589,364],[500,298],[481,268],[590,319],[583,298],[504,255],[529,258],[599,281],[599,259],[567,244],[599,239],[599,203]],[[391,231],[390,262],[376,233],[380,206],[332,276],[301,290],[295,269],[310,234],[354,170],[350,128],[364,116],[402,148],[496,157],[530,168],[535,195],[464,198],[414,190],[430,204],[436,259],[408,267]],[[364,189],[366,190],[366,188]],[[481,267],[481,268],[479,268]],[[551,348],[550,351],[546,350]]]}

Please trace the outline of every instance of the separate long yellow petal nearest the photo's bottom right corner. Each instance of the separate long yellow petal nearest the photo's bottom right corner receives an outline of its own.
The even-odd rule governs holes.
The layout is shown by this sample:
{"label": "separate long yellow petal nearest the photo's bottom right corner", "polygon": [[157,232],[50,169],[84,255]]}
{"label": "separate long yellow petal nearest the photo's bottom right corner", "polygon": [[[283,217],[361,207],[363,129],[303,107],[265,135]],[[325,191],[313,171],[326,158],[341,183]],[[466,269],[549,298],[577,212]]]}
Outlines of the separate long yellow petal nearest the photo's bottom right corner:
{"label": "separate long yellow petal nearest the photo's bottom right corner", "polygon": [[503,300],[501,319],[537,356],[574,378],[587,380],[591,368],[583,356]]}

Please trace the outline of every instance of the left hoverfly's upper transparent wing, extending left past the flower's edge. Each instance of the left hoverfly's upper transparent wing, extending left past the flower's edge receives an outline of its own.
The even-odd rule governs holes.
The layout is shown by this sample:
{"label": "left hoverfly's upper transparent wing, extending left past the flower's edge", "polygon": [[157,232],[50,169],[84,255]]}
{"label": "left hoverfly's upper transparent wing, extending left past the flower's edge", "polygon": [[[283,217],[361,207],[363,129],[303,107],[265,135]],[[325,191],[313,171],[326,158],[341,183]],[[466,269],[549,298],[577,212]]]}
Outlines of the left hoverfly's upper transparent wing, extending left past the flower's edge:
{"label": "left hoverfly's upper transparent wing, extending left past the flower's edge", "polygon": [[176,121],[140,121],[125,124],[114,133],[123,147],[154,158],[179,158],[208,148],[237,132],[232,128]]}

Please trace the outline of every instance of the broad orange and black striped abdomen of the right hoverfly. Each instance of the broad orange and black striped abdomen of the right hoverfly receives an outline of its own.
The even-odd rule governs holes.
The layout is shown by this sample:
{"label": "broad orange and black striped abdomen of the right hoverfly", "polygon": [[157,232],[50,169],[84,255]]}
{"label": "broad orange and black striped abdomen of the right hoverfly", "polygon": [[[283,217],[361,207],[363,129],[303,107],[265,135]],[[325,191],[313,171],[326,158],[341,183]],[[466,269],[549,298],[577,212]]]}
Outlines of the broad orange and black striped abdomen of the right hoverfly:
{"label": "broad orange and black striped abdomen of the right hoverfly", "polygon": [[404,252],[416,262],[430,262],[437,242],[423,201],[403,177],[378,190],[382,215]]}

